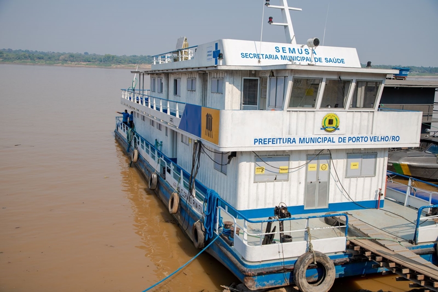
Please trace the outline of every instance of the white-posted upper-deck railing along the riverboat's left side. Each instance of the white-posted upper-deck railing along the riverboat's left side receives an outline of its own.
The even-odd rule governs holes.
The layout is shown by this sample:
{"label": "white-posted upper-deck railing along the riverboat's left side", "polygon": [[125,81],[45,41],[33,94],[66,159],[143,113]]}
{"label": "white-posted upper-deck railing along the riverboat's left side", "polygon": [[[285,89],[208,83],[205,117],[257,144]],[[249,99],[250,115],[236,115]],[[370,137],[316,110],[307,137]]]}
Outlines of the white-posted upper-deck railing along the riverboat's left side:
{"label": "white-posted upper-deck railing along the riverboat's left side", "polygon": [[185,102],[164,99],[147,93],[135,92],[132,89],[122,89],[122,98],[177,118],[181,118],[183,115],[186,104]]}

